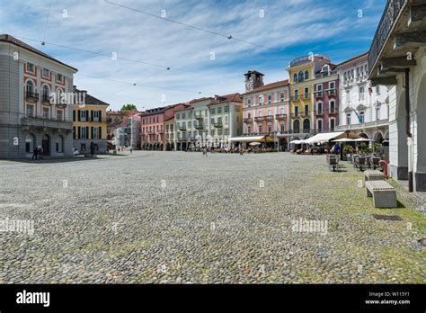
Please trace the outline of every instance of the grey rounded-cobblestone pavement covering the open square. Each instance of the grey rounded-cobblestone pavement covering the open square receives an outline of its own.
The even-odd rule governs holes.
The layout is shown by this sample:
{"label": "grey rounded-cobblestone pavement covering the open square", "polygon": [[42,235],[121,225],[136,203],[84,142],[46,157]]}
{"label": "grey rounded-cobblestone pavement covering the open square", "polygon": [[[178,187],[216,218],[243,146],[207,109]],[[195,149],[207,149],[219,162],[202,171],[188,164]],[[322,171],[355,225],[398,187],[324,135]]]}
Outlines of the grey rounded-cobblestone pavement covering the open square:
{"label": "grey rounded-cobblestone pavement covering the open square", "polygon": [[407,208],[374,209],[341,169],[287,153],[0,161],[0,283],[425,282],[422,203],[398,190]]}

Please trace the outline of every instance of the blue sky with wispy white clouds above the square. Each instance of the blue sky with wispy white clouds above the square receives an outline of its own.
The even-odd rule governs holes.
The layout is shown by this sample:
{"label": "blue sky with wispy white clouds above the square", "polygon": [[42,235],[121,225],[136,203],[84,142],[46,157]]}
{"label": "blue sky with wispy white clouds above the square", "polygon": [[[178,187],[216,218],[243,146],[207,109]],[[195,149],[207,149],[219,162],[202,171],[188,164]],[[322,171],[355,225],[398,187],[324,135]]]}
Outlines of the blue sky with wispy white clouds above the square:
{"label": "blue sky with wispy white clouds above the square", "polygon": [[[111,109],[135,103],[142,110],[200,96],[244,93],[243,75],[251,69],[261,71],[265,83],[286,79],[288,62],[309,52],[328,55],[338,64],[368,51],[386,4],[386,0],[110,1],[157,16],[165,13],[169,19],[238,40],[103,0],[0,0],[0,32],[26,38],[23,41],[33,47],[78,68],[75,85],[111,103]],[[48,44],[41,46],[42,40]],[[115,52],[119,59],[49,43],[107,56]]]}

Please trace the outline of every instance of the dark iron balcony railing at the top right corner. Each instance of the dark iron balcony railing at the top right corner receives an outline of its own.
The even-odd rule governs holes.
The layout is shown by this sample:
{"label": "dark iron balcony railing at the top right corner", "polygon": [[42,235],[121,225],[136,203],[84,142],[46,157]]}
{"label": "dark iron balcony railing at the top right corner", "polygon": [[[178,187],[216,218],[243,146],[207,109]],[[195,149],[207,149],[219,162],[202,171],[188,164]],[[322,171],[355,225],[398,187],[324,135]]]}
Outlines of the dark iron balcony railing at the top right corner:
{"label": "dark iron balcony railing at the top right corner", "polygon": [[389,32],[396,22],[396,18],[406,3],[408,3],[408,0],[387,0],[385,11],[380,22],[378,22],[377,31],[368,52],[368,68],[370,69],[370,73],[372,73],[371,69],[374,67],[378,54],[385,45]]}

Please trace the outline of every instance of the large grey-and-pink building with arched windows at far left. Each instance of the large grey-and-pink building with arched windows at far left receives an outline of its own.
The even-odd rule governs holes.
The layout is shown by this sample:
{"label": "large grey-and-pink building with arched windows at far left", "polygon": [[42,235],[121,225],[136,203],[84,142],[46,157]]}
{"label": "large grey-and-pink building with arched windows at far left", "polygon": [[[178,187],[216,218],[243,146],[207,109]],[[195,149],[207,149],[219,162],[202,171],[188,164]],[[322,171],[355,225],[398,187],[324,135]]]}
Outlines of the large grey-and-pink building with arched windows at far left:
{"label": "large grey-and-pink building with arched windows at far left", "polygon": [[73,108],[51,93],[73,94],[74,67],[10,35],[0,35],[0,158],[73,156]]}

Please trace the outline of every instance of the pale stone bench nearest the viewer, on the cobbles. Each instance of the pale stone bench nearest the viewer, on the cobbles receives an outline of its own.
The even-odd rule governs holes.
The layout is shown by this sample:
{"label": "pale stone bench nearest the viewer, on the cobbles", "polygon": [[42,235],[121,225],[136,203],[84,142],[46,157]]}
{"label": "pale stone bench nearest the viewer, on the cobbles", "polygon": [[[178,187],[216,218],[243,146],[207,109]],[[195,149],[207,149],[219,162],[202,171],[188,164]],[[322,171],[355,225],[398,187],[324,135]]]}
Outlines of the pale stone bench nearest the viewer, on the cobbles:
{"label": "pale stone bench nearest the viewer, on the cobbles", "polygon": [[396,191],[389,183],[385,181],[366,182],[367,196],[373,197],[375,208],[396,208]]}

